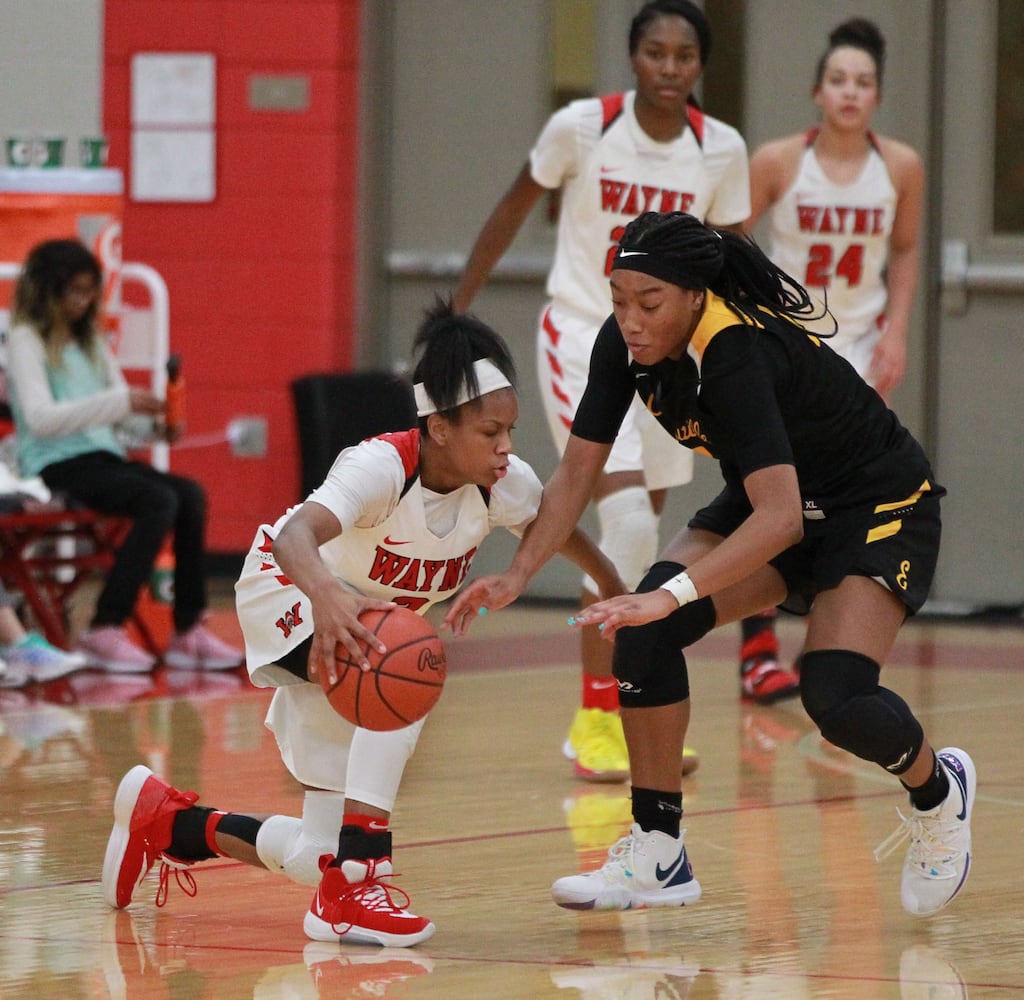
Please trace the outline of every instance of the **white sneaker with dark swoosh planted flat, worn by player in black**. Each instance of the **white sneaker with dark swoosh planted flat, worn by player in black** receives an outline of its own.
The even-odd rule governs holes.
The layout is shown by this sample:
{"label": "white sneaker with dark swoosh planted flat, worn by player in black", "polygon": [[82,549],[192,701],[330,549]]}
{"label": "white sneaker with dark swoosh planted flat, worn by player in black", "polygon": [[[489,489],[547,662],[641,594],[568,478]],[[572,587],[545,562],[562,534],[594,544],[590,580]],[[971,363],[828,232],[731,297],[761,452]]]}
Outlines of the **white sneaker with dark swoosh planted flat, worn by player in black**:
{"label": "white sneaker with dark swoosh planted flat, worn by player in black", "polygon": [[688,906],[700,899],[683,844],[685,830],[670,837],[647,832],[634,823],[608,851],[597,871],[567,875],[551,886],[551,895],[567,910],[638,910],[651,906]]}

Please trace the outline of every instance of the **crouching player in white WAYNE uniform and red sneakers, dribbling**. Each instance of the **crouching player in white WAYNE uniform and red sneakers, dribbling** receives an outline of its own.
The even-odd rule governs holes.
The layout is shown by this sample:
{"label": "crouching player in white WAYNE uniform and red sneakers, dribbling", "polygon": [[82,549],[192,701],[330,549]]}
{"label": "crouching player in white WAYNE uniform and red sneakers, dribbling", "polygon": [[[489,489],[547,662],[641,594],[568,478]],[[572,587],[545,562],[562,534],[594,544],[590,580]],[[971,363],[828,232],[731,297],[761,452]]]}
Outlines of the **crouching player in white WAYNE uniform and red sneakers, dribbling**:
{"label": "crouching player in white WAYNE uniform and red sneakers, dribbling", "polygon": [[[391,810],[423,721],[353,734],[317,677],[333,675],[339,643],[357,660],[357,639],[384,651],[362,611],[400,604],[423,614],[454,594],[493,528],[521,534],[532,521],[542,487],[511,453],[518,403],[504,342],[438,305],[416,346],[418,428],[343,450],[304,504],[259,527],[236,588],[250,677],[276,688],[266,725],[306,788],[301,820],[200,807],[195,792],[137,766],[115,799],[102,875],[111,906],[131,903],[155,863],[158,906],[171,871],[195,895],[188,868],[226,856],[318,883],[303,922],[314,941],[404,947],[434,932],[390,881]],[[625,590],[582,533],[562,551],[605,593]]]}

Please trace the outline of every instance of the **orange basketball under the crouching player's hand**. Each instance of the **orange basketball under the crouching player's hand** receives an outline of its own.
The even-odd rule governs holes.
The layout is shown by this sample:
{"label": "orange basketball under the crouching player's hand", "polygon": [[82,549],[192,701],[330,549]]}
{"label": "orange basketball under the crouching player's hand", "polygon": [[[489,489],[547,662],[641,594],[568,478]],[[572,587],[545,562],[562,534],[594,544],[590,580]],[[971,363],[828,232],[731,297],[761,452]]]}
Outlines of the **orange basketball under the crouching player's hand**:
{"label": "orange basketball under the crouching player's hand", "polygon": [[326,671],[321,683],[332,707],[364,729],[391,730],[422,719],[441,696],[447,663],[444,646],[425,618],[408,608],[365,611],[359,621],[377,636],[386,653],[367,650],[370,669],[338,644],[332,684]]}

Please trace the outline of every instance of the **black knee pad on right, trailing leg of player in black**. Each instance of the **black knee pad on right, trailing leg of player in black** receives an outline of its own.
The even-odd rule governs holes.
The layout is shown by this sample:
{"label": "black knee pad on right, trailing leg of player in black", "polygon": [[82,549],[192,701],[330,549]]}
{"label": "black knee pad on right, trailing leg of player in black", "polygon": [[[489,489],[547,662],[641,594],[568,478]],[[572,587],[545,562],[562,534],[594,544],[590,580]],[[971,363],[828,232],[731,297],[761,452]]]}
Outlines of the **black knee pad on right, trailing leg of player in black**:
{"label": "black knee pad on right, trailing leg of player in black", "polygon": [[925,734],[906,702],[879,687],[880,672],[861,653],[814,650],[801,662],[800,696],[829,743],[899,775],[913,764]]}

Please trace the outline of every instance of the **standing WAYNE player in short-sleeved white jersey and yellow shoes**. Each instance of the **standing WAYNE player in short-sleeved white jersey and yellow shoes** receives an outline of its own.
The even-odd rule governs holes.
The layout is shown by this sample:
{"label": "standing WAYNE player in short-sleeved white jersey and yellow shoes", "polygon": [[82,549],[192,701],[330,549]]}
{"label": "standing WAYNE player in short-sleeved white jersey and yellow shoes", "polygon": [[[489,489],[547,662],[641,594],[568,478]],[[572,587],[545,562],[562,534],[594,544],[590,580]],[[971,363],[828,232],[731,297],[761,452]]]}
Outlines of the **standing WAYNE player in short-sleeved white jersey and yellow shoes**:
{"label": "standing WAYNE player in short-sleeved white jersey and yellow shoes", "polygon": [[[512,186],[484,223],[455,292],[467,308],[540,198],[560,190],[558,238],[548,277],[550,303],[537,340],[538,375],[548,423],[561,452],[587,383],[597,331],[611,308],[609,262],[625,226],[641,212],[681,210],[738,229],[750,214],[746,146],[739,133],[692,99],[711,47],[703,12],[688,0],[645,4],[630,28],[636,89],[573,101],[545,125]],[[626,418],[595,493],[601,549],[634,586],[657,550],[657,519],[670,486],[689,482],[692,459],[658,433],[637,402]],[[584,604],[594,600],[584,581]],[[764,651],[777,642],[759,619]],[[629,775],[607,644],[581,637],[583,684],[565,743],[579,777]],[[740,659],[757,670],[768,699],[795,694],[797,680],[768,656]],[[750,692],[753,694],[753,691]],[[696,758],[687,751],[684,771]]]}

